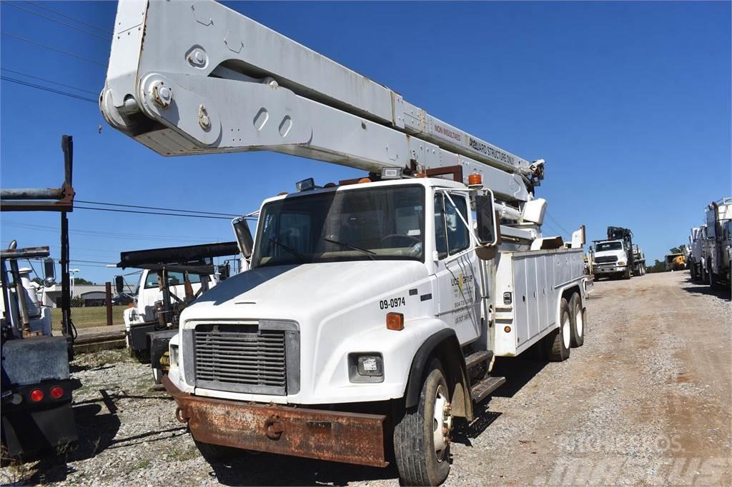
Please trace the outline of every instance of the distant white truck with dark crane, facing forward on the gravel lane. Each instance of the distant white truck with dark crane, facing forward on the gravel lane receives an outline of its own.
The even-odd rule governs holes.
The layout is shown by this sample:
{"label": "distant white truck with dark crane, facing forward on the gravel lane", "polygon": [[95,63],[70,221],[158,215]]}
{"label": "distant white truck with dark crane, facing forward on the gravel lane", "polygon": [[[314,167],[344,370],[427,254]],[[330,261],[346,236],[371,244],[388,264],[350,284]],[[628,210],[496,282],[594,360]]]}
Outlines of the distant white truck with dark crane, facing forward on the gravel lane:
{"label": "distant white truck with dark crane, facing forward on the gravel lane", "polygon": [[627,228],[608,227],[607,240],[593,241],[595,276],[630,279],[646,273],[646,255],[633,245],[633,233]]}

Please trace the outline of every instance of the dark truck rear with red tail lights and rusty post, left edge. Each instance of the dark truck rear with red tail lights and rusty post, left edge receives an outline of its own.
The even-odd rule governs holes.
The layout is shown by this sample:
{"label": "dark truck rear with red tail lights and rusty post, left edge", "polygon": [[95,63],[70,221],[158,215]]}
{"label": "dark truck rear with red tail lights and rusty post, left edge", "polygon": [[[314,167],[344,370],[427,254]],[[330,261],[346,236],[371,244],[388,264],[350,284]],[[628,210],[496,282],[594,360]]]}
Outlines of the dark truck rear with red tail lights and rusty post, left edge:
{"label": "dark truck rear with red tail lights and rusty post, left edge", "polygon": [[35,456],[75,442],[69,373],[75,329],[71,321],[69,223],[73,211],[72,137],[61,139],[64,184],[60,188],[2,189],[1,211],[59,211],[61,214],[61,336],[51,331],[51,309],[42,306],[30,268],[20,262],[44,259],[44,284],[56,279],[48,246],[20,248],[16,241],[0,251],[1,437],[3,458]]}

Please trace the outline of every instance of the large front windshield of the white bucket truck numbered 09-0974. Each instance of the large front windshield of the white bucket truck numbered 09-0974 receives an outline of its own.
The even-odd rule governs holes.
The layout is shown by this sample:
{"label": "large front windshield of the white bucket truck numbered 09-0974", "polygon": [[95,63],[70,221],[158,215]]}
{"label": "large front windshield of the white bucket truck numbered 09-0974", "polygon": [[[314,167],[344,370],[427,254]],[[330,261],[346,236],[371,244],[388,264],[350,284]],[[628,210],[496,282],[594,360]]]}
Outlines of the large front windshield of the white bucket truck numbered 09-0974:
{"label": "large front windshield of the white bucket truck numbered 09-0974", "polygon": [[252,266],[423,260],[421,185],[348,189],[267,203]]}

